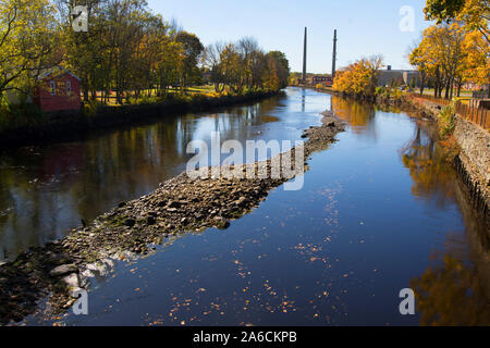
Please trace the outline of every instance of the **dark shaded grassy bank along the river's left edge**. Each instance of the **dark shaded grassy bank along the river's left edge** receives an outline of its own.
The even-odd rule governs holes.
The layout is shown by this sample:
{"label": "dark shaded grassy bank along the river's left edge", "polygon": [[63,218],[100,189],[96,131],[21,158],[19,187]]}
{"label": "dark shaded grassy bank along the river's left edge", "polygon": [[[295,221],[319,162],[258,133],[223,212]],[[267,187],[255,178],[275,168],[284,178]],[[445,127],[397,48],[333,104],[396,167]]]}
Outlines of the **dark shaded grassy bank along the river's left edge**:
{"label": "dark shaded grassy bank along the river's left edge", "polygon": [[0,149],[71,140],[94,129],[133,125],[177,113],[208,112],[225,107],[260,101],[282,91],[256,91],[243,96],[193,96],[189,100],[172,98],[161,102],[120,107],[98,105],[95,110],[60,111],[40,114],[29,125],[0,130]]}

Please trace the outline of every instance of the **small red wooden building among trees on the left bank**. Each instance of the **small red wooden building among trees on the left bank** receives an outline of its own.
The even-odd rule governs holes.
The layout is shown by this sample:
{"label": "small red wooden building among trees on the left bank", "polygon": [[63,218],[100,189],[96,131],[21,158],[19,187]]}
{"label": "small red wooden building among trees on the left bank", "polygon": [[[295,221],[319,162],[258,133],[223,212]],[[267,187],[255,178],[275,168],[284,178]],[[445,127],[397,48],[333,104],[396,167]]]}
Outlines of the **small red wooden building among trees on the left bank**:
{"label": "small red wooden building among trees on the left bank", "polygon": [[42,111],[79,109],[79,78],[71,72],[56,66],[42,72],[37,79],[33,100]]}

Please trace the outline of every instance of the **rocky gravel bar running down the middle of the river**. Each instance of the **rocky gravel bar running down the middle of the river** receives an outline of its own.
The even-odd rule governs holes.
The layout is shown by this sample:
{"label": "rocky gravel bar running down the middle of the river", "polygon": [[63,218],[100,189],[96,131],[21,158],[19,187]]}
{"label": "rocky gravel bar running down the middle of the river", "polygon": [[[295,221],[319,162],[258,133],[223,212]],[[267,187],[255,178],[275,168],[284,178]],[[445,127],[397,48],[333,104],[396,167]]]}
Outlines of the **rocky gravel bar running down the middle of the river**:
{"label": "rocky gravel bar running down the middle of the river", "polygon": [[[305,160],[326,149],[344,124],[326,113],[322,125],[304,133]],[[292,150],[292,162],[294,161]],[[282,154],[284,156],[284,154]],[[270,163],[255,163],[270,173]],[[266,164],[262,166],[261,164]],[[210,169],[206,169],[210,171]],[[235,167],[246,171],[246,165]],[[303,172],[303,169],[301,170]],[[302,175],[296,169],[295,175]],[[208,227],[226,228],[231,221],[257,207],[285,178],[192,179],[183,173],[160,185],[150,195],[99,216],[86,227],[74,229],[64,239],[35,248],[14,262],[0,266],[0,323],[19,322],[33,313],[38,300],[49,296],[49,310],[69,309],[71,290],[87,288],[91,276],[112,260],[136,258],[164,244],[172,235]]]}

